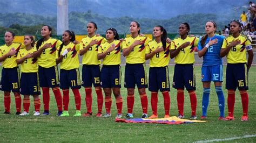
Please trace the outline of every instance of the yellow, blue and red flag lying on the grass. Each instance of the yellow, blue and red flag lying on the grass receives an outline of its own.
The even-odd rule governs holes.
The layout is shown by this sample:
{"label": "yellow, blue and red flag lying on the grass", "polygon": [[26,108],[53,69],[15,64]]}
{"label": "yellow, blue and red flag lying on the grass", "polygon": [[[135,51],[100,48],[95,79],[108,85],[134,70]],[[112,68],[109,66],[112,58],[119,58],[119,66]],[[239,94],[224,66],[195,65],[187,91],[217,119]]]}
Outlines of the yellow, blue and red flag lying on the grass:
{"label": "yellow, blue and red flag lying on the grass", "polygon": [[180,119],[176,116],[172,116],[170,118],[157,118],[157,119],[120,119],[116,118],[116,122],[125,122],[125,123],[159,123],[159,124],[183,124],[183,123],[201,123],[206,121],[201,120],[188,120],[188,119]]}

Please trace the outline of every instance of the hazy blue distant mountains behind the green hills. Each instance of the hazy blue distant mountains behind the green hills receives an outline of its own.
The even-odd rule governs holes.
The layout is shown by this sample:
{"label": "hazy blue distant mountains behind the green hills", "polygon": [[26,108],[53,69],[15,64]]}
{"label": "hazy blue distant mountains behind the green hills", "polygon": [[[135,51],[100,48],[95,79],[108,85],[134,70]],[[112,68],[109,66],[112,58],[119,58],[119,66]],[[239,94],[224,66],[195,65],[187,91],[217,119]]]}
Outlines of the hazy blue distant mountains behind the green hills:
{"label": "hazy blue distant mountains behind the green hills", "polygon": [[[191,13],[214,13],[237,17],[248,6],[246,0],[69,0],[69,12],[98,13],[105,17],[169,19]],[[0,2],[0,13],[30,13],[56,17],[57,0],[8,0]]]}

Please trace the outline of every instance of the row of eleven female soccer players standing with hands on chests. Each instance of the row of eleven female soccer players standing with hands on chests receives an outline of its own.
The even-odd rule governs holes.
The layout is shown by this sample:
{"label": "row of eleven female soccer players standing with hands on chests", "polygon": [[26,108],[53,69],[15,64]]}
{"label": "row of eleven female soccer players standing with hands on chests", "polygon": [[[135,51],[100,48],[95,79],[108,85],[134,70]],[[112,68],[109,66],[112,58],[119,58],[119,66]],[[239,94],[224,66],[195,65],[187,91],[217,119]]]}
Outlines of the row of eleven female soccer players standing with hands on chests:
{"label": "row of eleven female soccer players standing with hands on chests", "polygon": [[[76,114],[80,112],[81,96],[79,89],[81,85],[85,88],[85,102],[87,112],[83,116],[92,116],[92,84],[95,87],[98,102],[97,117],[102,116],[103,94],[105,92],[104,117],[111,116],[111,104],[113,92],[116,98],[117,118],[122,117],[123,97],[120,94],[121,69],[120,50],[126,57],[125,66],[125,88],[127,88],[127,118],[133,118],[134,88],[138,87],[142,103],[142,118],[147,118],[148,99],[145,88],[147,88],[147,77],[145,61],[150,59],[149,90],[151,91],[152,115],[149,118],[158,118],[158,91],[164,96],[165,118],[170,112],[170,82],[169,61],[175,58],[173,88],[177,89],[178,117],[184,118],[184,88],[188,91],[191,101],[191,119],[197,119],[197,96],[196,81],[194,75],[194,47],[198,46],[199,57],[203,56],[201,77],[203,82],[203,115],[201,119],[207,118],[207,106],[209,103],[210,84],[214,82],[215,91],[219,99],[221,120],[234,120],[235,90],[238,88],[242,98],[243,115],[241,120],[248,120],[248,70],[252,65],[253,51],[250,41],[245,35],[240,34],[239,22],[231,23],[232,35],[227,38],[215,34],[217,24],[209,21],[205,25],[206,35],[197,38],[188,35],[190,26],[182,23],[179,26],[179,38],[170,41],[167,38],[163,26],[153,28],[154,40],[140,34],[140,24],[131,22],[131,37],[119,40],[116,29],[106,30],[106,39],[96,34],[97,25],[93,22],[87,24],[88,36],[79,43],[75,40],[75,33],[69,30],[63,32],[62,42],[51,38],[51,27],[42,27],[42,39],[36,44],[32,35],[25,35],[24,45],[12,42],[15,34],[5,33],[6,44],[0,47],[0,61],[3,62],[2,90],[4,91],[5,112],[10,114],[10,91],[15,95],[17,115],[29,115],[30,99],[33,95],[35,104],[34,115],[40,115],[39,98],[40,87],[43,90],[43,115],[49,115],[49,88],[55,95],[58,105],[58,116],[69,116],[69,88],[75,95]],[[246,59],[248,52],[248,62]],[[79,74],[78,54],[83,55],[82,82]],[[222,89],[223,63],[221,58],[227,55],[226,89],[228,90],[227,105],[228,116],[224,116],[225,98]],[[103,67],[100,71],[100,60]],[[60,88],[57,64],[60,63]],[[19,82],[18,65],[21,64],[21,83]],[[21,113],[21,96],[24,95],[24,112]],[[63,111],[64,105],[64,111]]]}

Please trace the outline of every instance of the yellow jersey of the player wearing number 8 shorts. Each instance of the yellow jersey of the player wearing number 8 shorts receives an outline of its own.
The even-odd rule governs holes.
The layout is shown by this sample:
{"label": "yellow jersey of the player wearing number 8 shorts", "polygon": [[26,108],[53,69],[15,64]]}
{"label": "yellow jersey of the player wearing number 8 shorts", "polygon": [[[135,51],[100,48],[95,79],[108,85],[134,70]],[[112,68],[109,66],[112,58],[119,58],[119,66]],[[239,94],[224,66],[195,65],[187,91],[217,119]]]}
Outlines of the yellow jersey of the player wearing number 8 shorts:
{"label": "yellow jersey of the player wearing number 8 shorts", "polygon": [[[146,47],[146,54],[149,54],[156,50],[157,47],[162,47],[162,42],[157,43],[156,40],[150,41]],[[170,61],[170,46],[171,44],[166,43],[165,51],[156,53],[150,59],[150,67],[165,67],[169,65]]]}

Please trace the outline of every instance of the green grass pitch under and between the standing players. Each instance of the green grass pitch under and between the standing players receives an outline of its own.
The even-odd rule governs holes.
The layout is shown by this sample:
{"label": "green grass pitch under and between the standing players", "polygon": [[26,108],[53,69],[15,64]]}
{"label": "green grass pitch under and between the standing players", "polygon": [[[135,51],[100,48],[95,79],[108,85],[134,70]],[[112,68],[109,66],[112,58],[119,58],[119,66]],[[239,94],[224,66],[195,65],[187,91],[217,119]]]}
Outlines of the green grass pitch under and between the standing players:
{"label": "green grass pitch under and between the standing players", "polygon": [[[200,81],[201,67],[196,66],[197,77],[197,97],[198,108],[197,116],[201,116],[201,97],[203,87]],[[226,67],[225,67],[226,69]],[[124,66],[122,66],[124,81]],[[173,66],[170,66],[170,81],[173,77]],[[224,71],[225,72],[225,71]],[[14,95],[11,96],[11,115],[4,115],[3,92],[0,92],[0,142],[194,142],[201,140],[225,139],[238,137],[230,140],[231,142],[255,142],[256,141],[256,66],[253,66],[249,73],[249,120],[240,121],[242,116],[242,106],[240,94],[237,90],[235,101],[235,120],[223,121],[217,120],[219,116],[218,98],[213,88],[210,95],[210,104],[208,106],[208,122],[193,123],[180,125],[167,124],[135,124],[135,123],[116,123],[116,104],[113,98],[112,117],[72,117],[75,114],[75,101],[70,91],[69,113],[71,117],[56,117],[57,106],[55,97],[51,91],[50,100],[50,116],[39,117],[19,117],[15,116]],[[224,74],[225,79],[225,74]],[[227,115],[227,92],[225,90],[225,115]],[[86,111],[85,92],[80,89],[82,95],[82,112]],[[124,98],[123,115],[127,111],[126,107],[126,89],[122,87],[122,95]],[[149,97],[149,115],[151,115],[150,92],[147,91]],[[177,116],[177,98],[176,89],[171,88],[171,116]],[[142,107],[136,89],[136,99],[134,104],[134,115],[136,118],[142,116]],[[96,94],[93,91],[93,114],[97,112]],[[41,95],[42,99],[42,95]],[[163,96],[159,93],[158,112],[159,117],[164,116]],[[43,103],[43,101],[42,101]],[[31,98],[30,113],[34,111]],[[103,110],[105,111],[105,110]],[[185,92],[185,118],[190,117],[190,98]],[[43,112],[43,104],[41,105]],[[251,138],[239,138],[244,135],[254,135]],[[224,141],[223,141],[224,142]]]}

